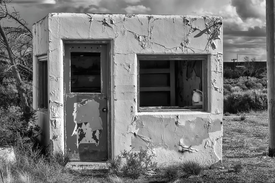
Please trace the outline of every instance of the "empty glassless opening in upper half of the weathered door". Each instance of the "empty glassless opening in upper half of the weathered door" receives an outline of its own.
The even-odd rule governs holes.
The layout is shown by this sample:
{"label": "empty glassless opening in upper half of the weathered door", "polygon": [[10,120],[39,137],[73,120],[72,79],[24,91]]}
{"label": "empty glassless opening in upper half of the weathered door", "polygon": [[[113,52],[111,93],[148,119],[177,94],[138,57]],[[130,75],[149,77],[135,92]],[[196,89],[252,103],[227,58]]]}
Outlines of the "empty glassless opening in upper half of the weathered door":
{"label": "empty glassless opening in upper half of the weathered door", "polygon": [[100,52],[71,52],[71,92],[101,92]]}

